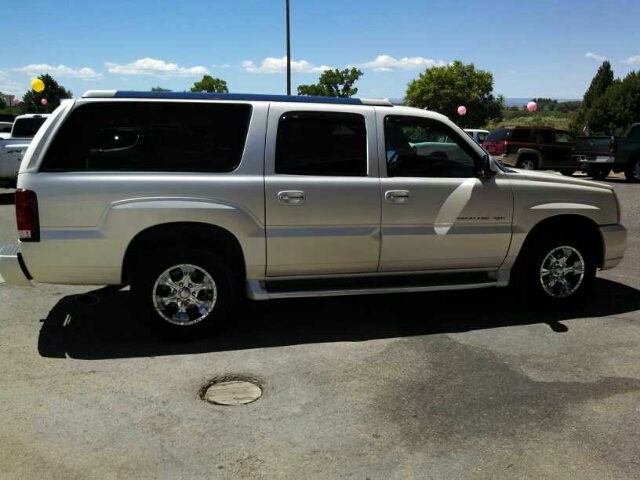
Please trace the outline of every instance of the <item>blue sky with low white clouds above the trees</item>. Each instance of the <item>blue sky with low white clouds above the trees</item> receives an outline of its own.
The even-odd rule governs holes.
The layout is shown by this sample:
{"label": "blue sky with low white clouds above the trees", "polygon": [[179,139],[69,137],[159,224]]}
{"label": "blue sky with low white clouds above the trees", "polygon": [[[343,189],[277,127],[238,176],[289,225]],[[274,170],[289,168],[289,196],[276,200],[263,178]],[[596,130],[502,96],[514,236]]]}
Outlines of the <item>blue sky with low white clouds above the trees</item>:
{"label": "blue sky with low white clouds above the trees", "polygon": [[[640,70],[638,0],[290,0],[292,84],[364,72],[357,96],[402,98],[454,60],[509,98],[582,98],[604,59]],[[0,91],[49,73],[91,89],[188,90],[203,75],[237,93],[286,93],[285,0],[30,0],[3,8]]]}

